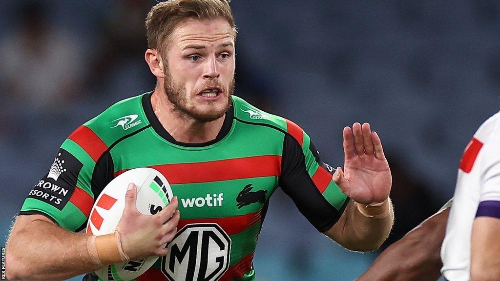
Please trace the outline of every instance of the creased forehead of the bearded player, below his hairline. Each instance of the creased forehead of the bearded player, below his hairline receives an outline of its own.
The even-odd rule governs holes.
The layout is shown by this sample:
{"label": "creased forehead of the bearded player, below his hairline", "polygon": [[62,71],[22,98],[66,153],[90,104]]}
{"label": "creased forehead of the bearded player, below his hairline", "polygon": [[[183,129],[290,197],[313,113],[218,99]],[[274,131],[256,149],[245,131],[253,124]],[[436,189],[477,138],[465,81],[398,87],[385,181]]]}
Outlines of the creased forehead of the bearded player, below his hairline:
{"label": "creased forehead of the bearded player, below his hairline", "polygon": [[224,18],[197,19],[189,18],[179,23],[170,34],[176,44],[187,44],[193,41],[215,42],[219,40],[234,41],[234,31]]}

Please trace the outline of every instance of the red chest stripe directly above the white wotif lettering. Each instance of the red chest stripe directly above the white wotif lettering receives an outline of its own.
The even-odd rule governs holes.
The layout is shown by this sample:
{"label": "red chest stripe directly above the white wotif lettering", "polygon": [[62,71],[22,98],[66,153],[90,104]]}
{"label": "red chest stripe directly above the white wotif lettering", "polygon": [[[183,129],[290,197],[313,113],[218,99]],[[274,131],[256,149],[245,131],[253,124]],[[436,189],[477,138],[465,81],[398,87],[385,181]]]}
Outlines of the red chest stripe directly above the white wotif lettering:
{"label": "red chest stripe directly above the white wotif lettering", "polygon": [[[279,176],[281,156],[262,155],[198,163],[149,166],[157,169],[170,184],[210,182],[259,176]],[[126,170],[114,173],[118,176]]]}

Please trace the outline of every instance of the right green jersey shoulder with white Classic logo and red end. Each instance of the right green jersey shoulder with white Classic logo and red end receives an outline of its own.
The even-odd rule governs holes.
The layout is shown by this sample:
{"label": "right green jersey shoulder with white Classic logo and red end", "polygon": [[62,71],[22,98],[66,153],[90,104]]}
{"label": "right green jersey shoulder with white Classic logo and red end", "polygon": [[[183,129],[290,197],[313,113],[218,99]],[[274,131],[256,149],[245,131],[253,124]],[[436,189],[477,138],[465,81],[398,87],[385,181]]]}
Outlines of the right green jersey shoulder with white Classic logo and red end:
{"label": "right green jersey shoulder with white Classic logo and red end", "polygon": [[237,121],[252,125],[267,126],[279,130],[285,134],[291,135],[299,143],[302,143],[305,133],[302,128],[293,121],[265,112],[235,95],[232,96],[232,103],[234,106],[234,118]]}

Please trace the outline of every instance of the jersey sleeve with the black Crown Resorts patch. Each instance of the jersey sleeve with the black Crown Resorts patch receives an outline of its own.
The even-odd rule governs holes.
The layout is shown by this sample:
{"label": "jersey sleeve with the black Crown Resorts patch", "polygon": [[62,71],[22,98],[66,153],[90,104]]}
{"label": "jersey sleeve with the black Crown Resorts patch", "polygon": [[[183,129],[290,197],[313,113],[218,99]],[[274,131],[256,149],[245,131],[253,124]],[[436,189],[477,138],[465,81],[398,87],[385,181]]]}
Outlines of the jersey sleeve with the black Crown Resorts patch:
{"label": "jersey sleeve with the black Crown Resorts patch", "polygon": [[109,155],[107,146],[91,129],[78,127],[29,191],[19,215],[42,214],[62,228],[83,229],[94,198],[113,178]]}

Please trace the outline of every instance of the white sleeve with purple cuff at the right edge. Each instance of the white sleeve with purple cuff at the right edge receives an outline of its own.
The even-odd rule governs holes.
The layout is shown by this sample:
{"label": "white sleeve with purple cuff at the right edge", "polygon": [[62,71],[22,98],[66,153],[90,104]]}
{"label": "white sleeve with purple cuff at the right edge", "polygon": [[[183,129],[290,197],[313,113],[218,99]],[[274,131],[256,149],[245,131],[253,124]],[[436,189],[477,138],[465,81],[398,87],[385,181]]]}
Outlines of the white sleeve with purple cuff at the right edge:
{"label": "white sleeve with purple cuff at the right edge", "polygon": [[[472,139],[473,141],[474,139]],[[476,140],[478,142],[478,140]],[[500,218],[500,146],[498,133],[477,149],[480,198],[477,216]]]}

